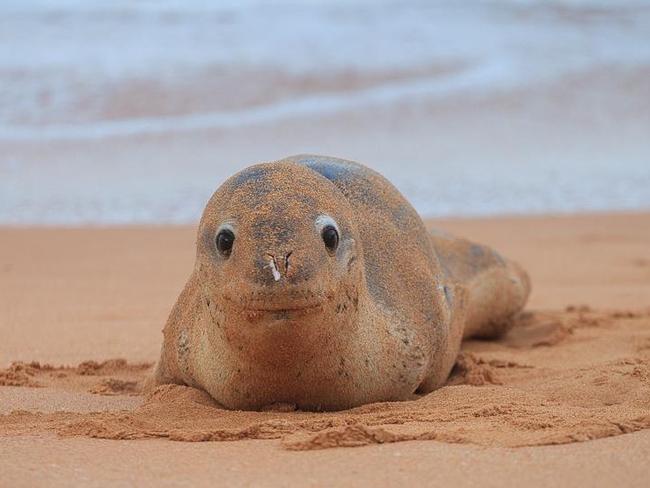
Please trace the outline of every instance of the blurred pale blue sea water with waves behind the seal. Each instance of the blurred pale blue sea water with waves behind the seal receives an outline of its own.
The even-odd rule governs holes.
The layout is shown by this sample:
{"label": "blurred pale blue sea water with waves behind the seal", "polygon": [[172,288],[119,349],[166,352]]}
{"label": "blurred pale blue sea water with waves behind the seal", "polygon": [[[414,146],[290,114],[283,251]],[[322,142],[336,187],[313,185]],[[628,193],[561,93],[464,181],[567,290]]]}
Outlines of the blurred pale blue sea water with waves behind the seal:
{"label": "blurred pale blue sea water with waves behind the seal", "polygon": [[2,0],[0,224],[362,161],[424,216],[650,208],[650,1]]}

